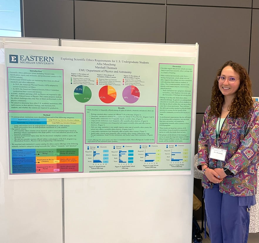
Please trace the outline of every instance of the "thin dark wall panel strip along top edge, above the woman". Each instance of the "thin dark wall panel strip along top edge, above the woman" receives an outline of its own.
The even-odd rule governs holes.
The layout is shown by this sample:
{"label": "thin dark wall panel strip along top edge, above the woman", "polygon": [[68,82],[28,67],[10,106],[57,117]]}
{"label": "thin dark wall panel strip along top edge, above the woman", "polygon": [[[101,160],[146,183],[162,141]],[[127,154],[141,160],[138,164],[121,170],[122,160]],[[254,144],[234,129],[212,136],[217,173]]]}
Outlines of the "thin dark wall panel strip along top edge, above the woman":
{"label": "thin dark wall panel strip along top edge, above the woman", "polygon": [[167,0],[167,4],[251,8],[252,0]]}

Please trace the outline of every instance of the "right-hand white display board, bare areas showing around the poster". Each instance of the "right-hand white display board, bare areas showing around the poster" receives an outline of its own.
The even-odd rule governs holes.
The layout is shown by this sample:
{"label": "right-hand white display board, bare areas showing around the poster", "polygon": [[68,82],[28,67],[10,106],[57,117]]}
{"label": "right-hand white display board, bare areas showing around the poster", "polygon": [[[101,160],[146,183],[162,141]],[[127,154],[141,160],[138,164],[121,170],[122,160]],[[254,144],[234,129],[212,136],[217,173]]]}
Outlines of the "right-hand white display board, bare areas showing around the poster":
{"label": "right-hand white display board, bare areas showing around the poster", "polygon": [[[123,45],[72,40],[61,43],[92,48]],[[128,43],[128,48],[143,50],[148,45]],[[158,44],[154,48],[172,50],[174,45]],[[184,48],[195,49],[182,45],[178,50]],[[194,145],[194,136],[191,143]],[[191,175],[64,180],[65,242],[191,242],[193,171]]]}

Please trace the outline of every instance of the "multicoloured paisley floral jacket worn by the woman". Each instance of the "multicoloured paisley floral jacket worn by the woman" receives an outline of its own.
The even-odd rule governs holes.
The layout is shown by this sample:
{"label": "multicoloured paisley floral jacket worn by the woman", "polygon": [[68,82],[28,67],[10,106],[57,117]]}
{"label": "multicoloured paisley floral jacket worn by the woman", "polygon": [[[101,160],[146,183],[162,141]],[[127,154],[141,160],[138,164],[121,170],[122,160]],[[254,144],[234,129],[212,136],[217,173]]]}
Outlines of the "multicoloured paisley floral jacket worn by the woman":
{"label": "multicoloured paisley floral jacket worn by the woman", "polygon": [[[259,166],[259,103],[255,102],[250,109],[250,119],[227,116],[220,133],[220,145],[227,148],[225,161],[208,158],[211,146],[216,146],[216,124],[218,117],[208,116],[211,107],[205,111],[203,124],[198,140],[198,166],[209,168],[228,168],[234,175],[226,176],[219,184],[221,193],[231,196],[250,196],[256,194],[257,169]],[[204,188],[212,188],[203,175]]]}

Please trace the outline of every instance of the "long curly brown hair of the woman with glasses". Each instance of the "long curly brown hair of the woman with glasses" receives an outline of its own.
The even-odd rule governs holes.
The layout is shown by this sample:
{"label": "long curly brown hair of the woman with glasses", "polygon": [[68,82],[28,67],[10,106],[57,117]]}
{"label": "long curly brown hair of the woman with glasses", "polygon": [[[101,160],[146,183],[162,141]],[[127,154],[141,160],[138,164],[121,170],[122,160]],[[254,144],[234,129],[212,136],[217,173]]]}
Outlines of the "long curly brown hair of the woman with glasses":
{"label": "long curly brown hair of the woman with glasses", "polygon": [[[221,75],[221,71],[224,67],[230,66],[240,75],[240,86],[236,93],[236,97],[233,99],[230,105],[229,116],[233,118],[248,116],[248,111],[253,107],[251,80],[248,76],[246,69],[238,63],[228,61],[218,70],[217,76]],[[224,101],[224,95],[221,93],[218,87],[217,77],[214,80],[214,85],[211,92],[211,111],[210,115],[219,117],[221,115],[222,104]]]}

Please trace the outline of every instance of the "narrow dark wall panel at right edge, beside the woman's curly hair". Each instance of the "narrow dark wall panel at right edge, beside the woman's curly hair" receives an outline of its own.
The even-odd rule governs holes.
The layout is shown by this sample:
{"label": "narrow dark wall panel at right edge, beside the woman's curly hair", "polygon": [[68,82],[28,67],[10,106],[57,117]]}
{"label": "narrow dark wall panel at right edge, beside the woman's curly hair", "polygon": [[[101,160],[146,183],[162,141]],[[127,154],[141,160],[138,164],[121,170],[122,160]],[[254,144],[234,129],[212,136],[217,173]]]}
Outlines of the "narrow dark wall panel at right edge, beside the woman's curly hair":
{"label": "narrow dark wall panel at right edge, beside the woman's curly hair", "polygon": [[253,9],[249,76],[253,96],[259,97],[259,9]]}

